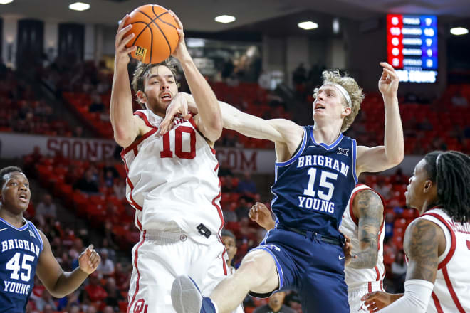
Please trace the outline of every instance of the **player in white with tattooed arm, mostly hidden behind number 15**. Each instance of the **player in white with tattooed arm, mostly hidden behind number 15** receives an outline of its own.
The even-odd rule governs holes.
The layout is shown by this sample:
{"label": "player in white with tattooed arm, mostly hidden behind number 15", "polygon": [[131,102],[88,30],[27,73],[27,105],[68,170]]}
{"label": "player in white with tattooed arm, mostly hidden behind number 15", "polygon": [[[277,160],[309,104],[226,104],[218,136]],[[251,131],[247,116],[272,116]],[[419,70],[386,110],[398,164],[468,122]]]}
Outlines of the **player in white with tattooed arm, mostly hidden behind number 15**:
{"label": "player in white with tattooed arm, mostly hidden behind number 15", "polygon": [[[351,258],[345,266],[350,312],[367,312],[361,297],[368,292],[383,290],[385,201],[377,191],[365,184],[352,189],[348,206],[343,213],[340,231],[351,240]],[[266,230],[274,228],[271,211],[256,203],[249,212],[251,220]]]}

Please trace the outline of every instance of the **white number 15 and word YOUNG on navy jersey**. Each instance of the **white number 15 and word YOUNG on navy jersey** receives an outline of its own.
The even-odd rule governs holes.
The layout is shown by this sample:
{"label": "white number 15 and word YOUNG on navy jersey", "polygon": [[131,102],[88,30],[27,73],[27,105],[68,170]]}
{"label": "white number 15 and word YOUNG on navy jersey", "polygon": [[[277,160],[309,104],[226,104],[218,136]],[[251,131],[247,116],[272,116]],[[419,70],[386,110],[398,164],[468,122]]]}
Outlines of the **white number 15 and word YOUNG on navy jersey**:
{"label": "white number 15 and word YOUNG on navy jersey", "polygon": [[[327,189],[328,192],[325,193],[323,190],[314,190],[315,178],[317,176],[317,169],[310,167],[308,169],[308,185],[306,189],[303,189],[303,194],[305,196],[299,196],[299,206],[301,208],[307,208],[309,210],[315,211],[325,211],[328,213],[335,212],[335,203],[329,202],[333,198],[333,192],[335,191],[335,185],[332,181],[338,179],[338,174],[330,173],[329,171],[320,172],[320,187]],[[315,198],[315,196],[317,198]],[[320,199],[318,199],[320,198]]]}

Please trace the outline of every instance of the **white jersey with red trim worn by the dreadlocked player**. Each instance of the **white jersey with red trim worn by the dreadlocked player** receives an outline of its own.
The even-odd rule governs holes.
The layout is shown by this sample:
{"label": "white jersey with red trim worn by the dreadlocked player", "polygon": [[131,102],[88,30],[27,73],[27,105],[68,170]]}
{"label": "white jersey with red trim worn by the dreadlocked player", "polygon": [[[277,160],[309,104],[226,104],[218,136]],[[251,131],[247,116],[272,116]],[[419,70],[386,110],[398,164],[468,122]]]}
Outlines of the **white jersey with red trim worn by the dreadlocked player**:
{"label": "white jersey with red trim worn by the dreadlocked player", "polygon": [[421,217],[444,231],[446,250],[439,255],[436,281],[426,312],[470,312],[470,223],[457,223],[440,208]]}

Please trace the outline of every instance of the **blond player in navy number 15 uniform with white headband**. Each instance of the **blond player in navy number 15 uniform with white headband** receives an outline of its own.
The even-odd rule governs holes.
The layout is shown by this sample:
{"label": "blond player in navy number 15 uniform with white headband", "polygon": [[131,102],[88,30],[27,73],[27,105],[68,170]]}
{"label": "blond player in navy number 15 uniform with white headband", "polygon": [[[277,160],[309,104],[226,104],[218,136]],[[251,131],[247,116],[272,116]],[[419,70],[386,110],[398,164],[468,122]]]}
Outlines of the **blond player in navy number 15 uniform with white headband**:
{"label": "blond player in navy number 15 uniform with white headband", "polygon": [[[383,146],[357,147],[354,139],[343,135],[359,112],[363,95],[354,79],[338,72],[323,72],[323,85],[315,89],[313,126],[263,120],[221,102],[224,127],[275,143],[276,228],[211,295],[200,295],[198,282],[190,277],[177,277],[172,303],[178,313],[231,312],[248,292],[268,297],[278,290],[296,290],[303,312],[350,312],[344,281],[348,255],[343,253],[345,238],[338,231],[343,211],[360,173],[384,171],[403,159],[398,76],[391,65],[380,65]],[[171,116],[187,112],[188,104],[189,110],[196,110],[190,97],[167,108],[162,133]]]}

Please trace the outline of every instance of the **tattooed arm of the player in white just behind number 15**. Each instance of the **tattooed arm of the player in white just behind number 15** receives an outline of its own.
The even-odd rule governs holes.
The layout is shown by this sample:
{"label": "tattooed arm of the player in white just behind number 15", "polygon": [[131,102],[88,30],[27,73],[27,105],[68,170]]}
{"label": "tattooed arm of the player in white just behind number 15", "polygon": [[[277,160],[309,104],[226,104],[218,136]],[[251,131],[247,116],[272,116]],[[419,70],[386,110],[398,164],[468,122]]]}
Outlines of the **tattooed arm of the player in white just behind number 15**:
{"label": "tattooed arm of the player in white just behind number 15", "polygon": [[377,264],[379,230],[383,221],[384,206],[380,196],[370,189],[358,192],[352,205],[358,213],[360,251],[357,253],[357,259],[352,259],[348,267],[372,268]]}

